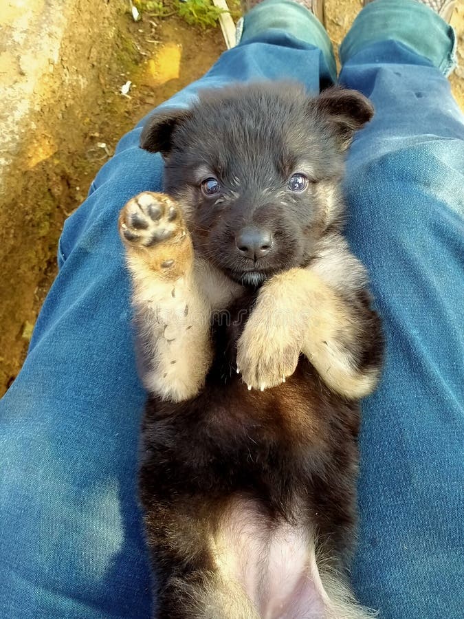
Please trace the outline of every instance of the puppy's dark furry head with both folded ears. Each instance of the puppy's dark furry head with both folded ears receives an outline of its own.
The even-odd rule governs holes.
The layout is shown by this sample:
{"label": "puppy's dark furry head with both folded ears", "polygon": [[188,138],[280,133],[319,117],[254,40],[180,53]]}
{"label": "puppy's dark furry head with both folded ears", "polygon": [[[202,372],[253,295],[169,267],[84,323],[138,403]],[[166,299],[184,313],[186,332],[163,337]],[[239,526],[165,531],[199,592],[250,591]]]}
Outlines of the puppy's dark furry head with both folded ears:
{"label": "puppy's dark furry head with both folded ears", "polygon": [[197,254],[243,285],[309,263],[342,215],[344,151],[371,104],[340,88],[309,97],[293,83],[203,91],[142,132],[161,152]]}

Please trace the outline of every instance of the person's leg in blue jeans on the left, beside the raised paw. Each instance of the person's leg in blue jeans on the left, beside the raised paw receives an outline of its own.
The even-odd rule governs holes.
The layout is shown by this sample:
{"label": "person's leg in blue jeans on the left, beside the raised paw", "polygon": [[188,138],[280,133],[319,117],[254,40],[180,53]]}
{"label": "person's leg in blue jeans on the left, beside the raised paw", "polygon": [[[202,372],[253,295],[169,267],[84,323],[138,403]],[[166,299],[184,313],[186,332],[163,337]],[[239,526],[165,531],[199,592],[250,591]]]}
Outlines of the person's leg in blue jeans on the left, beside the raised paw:
{"label": "person's leg in blue jeans on the left, beside the raised paw", "polygon": [[[272,25],[263,30],[251,13],[243,44],[165,105],[186,107],[199,88],[232,80],[294,78],[311,91],[329,83],[333,56],[315,18],[294,3],[269,5]],[[0,402],[0,616],[8,619],[150,614],[136,501],[145,394],[117,226],[130,197],[162,187],[161,158],[138,147],[142,124],[67,220],[60,272]]]}

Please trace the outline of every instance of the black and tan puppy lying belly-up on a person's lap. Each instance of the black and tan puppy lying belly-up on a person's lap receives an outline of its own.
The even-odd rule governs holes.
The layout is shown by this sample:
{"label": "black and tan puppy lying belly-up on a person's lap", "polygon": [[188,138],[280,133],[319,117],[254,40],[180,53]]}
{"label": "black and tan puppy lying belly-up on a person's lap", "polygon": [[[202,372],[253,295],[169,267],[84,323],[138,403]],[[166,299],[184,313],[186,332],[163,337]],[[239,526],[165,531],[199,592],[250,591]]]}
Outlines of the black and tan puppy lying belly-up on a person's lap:
{"label": "black and tan puppy lying belly-up on a person's lap", "polygon": [[361,94],[290,83],[155,113],[166,194],[124,206],[140,496],[159,619],[362,619],[346,580],[358,400],[382,338],[342,235]]}

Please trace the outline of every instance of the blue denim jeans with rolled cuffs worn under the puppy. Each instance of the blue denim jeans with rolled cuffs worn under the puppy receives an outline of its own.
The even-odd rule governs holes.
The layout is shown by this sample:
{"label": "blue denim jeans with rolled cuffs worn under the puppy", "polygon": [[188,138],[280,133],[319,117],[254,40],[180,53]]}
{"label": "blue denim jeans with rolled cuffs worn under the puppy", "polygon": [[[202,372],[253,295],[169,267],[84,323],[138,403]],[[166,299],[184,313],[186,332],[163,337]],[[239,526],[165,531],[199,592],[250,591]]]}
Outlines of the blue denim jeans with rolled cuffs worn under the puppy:
{"label": "blue denim jeans with rolled cuffs worn under the puppy", "polygon": [[[333,78],[313,17],[267,3],[274,22],[252,11],[241,44],[168,105],[232,80],[294,78],[316,92]],[[395,10],[415,25],[410,39],[386,20]],[[443,76],[453,47],[448,26],[409,0],[368,5],[342,45],[340,81],[376,109],[351,147],[345,189],[349,240],[387,342],[382,382],[363,405],[352,570],[382,619],[461,619],[464,608],[464,120]],[[151,613],[136,491],[145,393],[117,232],[124,202],[162,187],[161,158],[137,146],[143,123],[67,220],[60,272],[0,402],[2,619]]]}

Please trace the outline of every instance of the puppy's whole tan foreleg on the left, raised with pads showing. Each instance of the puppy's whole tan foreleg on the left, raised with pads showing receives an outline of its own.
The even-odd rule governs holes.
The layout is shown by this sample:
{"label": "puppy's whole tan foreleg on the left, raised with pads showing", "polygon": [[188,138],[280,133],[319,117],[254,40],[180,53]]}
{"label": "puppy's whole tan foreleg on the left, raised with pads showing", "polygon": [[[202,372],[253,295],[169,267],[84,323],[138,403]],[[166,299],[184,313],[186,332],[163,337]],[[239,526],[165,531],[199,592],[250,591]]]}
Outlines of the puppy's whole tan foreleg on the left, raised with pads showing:
{"label": "puppy's whole tan foreleg on the left, raised with pads showing", "polygon": [[167,195],[140,193],[122,208],[119,230],[144,385],[164,400],[192,398],[210,366],[210,310],[192,277],[192,241],[181,208]]}

